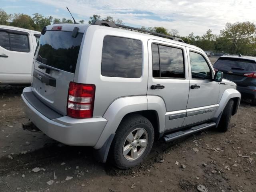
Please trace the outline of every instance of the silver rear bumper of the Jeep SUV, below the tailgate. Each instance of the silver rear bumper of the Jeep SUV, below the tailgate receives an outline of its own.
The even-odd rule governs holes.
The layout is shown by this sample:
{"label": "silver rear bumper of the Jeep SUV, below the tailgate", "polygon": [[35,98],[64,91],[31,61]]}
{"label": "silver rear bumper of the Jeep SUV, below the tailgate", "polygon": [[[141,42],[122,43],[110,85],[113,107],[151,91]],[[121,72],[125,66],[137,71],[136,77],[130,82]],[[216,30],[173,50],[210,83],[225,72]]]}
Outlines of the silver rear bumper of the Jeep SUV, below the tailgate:
{"label": "silver rear bumper of the Jeep SUV, below the tailgate", "polygon": [[[27,117],[50,138],[67,145],[95,146],[107,123],[105,118],[75,119],[61,116],[49,119],[39,112],[31,100],[24,97],[25,92],[32,92],[31,87],[24,88],[22,99]],[[36,102],[34,99],[33,102]]]}

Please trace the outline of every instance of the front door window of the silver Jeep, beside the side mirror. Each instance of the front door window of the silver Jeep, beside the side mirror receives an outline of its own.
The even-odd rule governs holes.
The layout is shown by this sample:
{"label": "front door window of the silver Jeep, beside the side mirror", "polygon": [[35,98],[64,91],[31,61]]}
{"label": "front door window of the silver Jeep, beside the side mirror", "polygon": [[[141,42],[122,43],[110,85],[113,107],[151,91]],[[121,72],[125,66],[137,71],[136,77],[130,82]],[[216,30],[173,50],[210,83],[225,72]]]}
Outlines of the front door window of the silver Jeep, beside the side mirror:
{"label": "front door window of the silver Jeep, beside the side mirror", "polygon": [[211,70],[204,57],[195,52],[189,52],[192,78],[211,79]]}

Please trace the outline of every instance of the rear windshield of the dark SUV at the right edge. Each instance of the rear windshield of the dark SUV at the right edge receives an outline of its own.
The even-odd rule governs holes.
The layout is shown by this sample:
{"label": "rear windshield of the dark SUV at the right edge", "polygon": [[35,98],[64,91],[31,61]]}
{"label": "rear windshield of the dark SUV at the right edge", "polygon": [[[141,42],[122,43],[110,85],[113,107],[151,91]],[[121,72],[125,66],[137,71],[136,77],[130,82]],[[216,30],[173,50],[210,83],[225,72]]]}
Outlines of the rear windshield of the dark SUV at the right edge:
{"label": "rear windshield of the dark SUV at the right edge", "polygon": [[256,62],[253,60],[236,58],[220,58],[216,61],[214,67],[219,67],[226,70],[256,71]]}

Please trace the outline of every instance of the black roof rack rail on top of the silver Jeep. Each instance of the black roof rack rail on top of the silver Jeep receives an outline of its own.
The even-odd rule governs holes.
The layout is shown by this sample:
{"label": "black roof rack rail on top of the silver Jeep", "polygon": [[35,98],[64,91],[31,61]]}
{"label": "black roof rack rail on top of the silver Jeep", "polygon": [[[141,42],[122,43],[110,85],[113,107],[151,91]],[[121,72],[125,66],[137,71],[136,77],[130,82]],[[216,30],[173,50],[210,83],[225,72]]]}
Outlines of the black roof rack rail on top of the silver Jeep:
{"label": "black roof rack rail on top of the silver Jeep", "polygon": [[152,31],[148,31],[148,30],[144,30],[144,29],[140,29],[140,28],[130,27],[130,26],[126,26],[126,25],[115,24],[113,22],[108,22],[108,21],[94,20],[92,22],[92,25],[101,25],[101,26],[107,26],[107,27],[113,27],[113,28],[119,28],[119,27],[126,28],[126,29],[136,30],[138,32],[144,32],[144,33],[148,33],[148,34],[151,34],[154,36],[164,37],[164,38],[168,38],[171,40],[175,40],[175,41],[184,43],[184,41],[181,38],[177,38],[177,37],[173,37],[173,36],[169,36],[169,35],[165,35],[165,34],[161,34],[161,33],[157,33],[157,32],[152,32]]}

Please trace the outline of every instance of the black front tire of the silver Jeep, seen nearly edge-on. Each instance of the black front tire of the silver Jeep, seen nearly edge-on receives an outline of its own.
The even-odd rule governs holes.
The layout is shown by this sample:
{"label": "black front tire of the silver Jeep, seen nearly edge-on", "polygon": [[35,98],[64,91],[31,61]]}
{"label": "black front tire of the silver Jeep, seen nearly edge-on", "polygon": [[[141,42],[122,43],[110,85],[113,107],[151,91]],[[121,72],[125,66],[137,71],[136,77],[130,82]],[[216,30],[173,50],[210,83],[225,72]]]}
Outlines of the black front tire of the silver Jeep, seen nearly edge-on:
{"label": "black front tire of the silver Jeep, seen nearly edge-on", "polygon": [[218,124],[218,130],[220,132],[226,132],[228,130],[228,125],[232,115],[233,106],[234,106],[234,100],[231,99],[228,101],[226,107],[223,110],[222,116],[220,118],[220,122]]}

